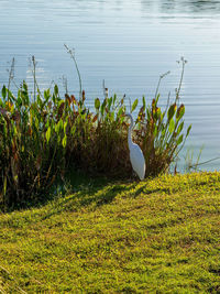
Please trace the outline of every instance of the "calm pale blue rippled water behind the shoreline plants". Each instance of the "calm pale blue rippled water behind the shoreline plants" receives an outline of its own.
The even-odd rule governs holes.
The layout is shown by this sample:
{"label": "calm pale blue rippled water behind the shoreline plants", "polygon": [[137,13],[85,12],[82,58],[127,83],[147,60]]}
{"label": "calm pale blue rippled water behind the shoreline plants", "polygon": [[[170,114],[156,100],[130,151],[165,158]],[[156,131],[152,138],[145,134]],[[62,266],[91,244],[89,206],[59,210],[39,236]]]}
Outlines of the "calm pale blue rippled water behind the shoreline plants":
{"label": "calm pale blue rippled water behind the shoreline plants", "polygon": [[[180,99],[186,124],[193,123],[188,146],[195,160],[220,156],[220,1],[174,0],[1,0],[0,86],[15,57],[15,83],[32,83],[29,58],[37,61],[42,88],[51,81],[78,94],[78,79],[64,43],[74,47],[88,105],[102,97],[105,78],[110,94],[131,100],[155,92],[158,76],[162,104],[178,86],[184,56],[188,63]],[[89,97],[91,98],[89,100]],[[129,100],[128,100],[129,101]],[[184,161],[183,161],[184,162]],[[220,160],[202,165],[219,170]]]}

